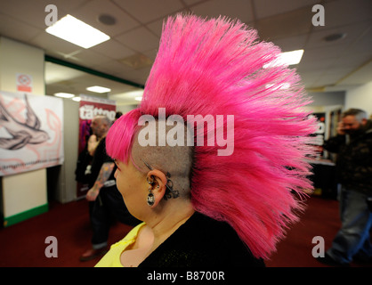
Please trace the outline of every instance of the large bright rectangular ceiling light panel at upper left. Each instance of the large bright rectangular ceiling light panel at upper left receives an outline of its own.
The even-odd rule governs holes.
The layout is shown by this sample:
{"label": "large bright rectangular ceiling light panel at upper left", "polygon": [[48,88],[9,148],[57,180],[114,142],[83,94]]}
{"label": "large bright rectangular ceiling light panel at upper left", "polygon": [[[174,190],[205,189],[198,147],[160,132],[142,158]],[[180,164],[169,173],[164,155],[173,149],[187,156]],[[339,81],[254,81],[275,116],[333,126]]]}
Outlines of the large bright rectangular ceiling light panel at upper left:
{"label": "large bright rectangular ceiling light panel at upper left", "polygon": [[108,35],[71,15],[66,15],[45,31],[84,48],[90,48],[109,40]]}

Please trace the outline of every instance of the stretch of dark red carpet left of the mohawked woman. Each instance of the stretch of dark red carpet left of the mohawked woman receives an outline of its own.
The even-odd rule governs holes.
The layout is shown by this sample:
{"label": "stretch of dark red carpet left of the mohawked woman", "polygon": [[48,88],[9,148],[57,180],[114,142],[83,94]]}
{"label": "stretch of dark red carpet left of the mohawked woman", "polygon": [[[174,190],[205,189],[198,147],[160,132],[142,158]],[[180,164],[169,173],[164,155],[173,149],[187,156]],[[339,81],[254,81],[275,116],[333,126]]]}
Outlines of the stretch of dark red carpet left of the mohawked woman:
{"label": "stretch of dark red carpet left of the mohawked woman", "polygon": [[[131,229],[125,224],[114,224],[109,232],[109,244],[124,238]],[[45,244],[48,236],[58,240],[57,258],[47,258],[44,254],[49,245]],[[0,266],[92,267],[100,258],[79,261],[79,256],[91,247],[91,238],[88,202],[85,199],[64,205],[55,204],[48,213],[0,230]]]}

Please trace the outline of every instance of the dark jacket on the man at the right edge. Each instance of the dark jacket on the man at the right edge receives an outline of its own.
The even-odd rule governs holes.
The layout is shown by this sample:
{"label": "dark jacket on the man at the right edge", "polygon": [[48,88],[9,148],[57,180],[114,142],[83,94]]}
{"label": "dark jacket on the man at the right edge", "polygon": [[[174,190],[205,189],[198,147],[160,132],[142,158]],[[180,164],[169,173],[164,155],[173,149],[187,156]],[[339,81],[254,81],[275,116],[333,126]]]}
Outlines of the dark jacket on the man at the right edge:
{"label": "dark jacket on the man at the right edge", "polygon": [[[349,136],[349,135],[348,135]],[[336,174],[346,189],[372,194],[372,121],[350,135],[337,135],[324,142],[327,151],[337,153]]]}

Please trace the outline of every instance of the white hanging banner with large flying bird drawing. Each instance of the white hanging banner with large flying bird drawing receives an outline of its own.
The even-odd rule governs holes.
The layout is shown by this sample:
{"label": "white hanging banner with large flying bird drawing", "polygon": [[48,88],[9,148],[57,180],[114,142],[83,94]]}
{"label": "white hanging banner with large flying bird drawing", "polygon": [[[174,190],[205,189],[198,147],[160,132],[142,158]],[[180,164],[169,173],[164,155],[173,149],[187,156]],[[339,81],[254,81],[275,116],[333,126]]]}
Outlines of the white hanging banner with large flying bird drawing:
{"label": "white hanging banner with large flying bird drawing", "polygon": [[61,98],[0,91],[0,176],[61,165]]}

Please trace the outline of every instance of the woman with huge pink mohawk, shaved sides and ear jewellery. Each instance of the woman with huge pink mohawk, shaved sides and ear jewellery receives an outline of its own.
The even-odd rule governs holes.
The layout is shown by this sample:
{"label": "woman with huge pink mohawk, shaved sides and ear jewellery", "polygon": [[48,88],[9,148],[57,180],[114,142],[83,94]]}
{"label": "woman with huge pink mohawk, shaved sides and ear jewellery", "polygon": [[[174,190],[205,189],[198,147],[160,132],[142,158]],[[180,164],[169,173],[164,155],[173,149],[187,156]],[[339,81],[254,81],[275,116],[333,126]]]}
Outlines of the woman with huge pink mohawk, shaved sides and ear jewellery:
{"label": "woman with huge pink mohawk, shaved sides and ear jewellery", "polygon": [[96,266],[264,266],[311,190],[315,123],[279,53],[238,20],[166,20],[142,103],[106,142],[143,223]]}

